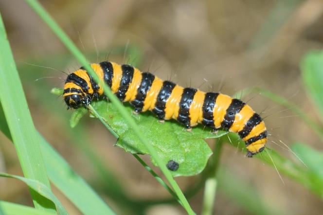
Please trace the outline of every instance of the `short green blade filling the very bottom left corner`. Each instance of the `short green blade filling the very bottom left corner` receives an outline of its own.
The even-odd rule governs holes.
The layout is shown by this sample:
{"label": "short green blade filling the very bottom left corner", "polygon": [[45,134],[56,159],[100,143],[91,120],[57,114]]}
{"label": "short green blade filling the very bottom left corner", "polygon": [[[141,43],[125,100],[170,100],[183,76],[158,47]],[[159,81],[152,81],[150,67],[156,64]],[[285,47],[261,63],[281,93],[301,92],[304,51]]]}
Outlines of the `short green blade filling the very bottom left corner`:
{"label": "short green blade filling the very bottom left corner", "polygon": [[54,215],[55,213],[37,210],[32,207],[0,201],[0,215]]}

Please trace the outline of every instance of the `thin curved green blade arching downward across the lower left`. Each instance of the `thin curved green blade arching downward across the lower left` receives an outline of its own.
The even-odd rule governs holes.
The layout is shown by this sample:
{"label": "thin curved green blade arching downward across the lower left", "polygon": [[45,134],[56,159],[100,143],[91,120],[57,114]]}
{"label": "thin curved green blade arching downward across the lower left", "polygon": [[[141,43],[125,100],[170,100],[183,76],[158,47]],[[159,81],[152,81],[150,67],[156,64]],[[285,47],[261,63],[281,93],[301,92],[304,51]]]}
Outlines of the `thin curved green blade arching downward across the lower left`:
{"label": "thin curved green blade arching downward across the lower left", "polygon": [[59,202],[59,200],[54,196],[52,191],[45,184],[34,179],[27,179],[20,176],[10,175],[2,172],[0,172],[0,177],[14,178],[25,182],[30,188],[32,188],[38,194],[51,200],[55,204],[57,213],[59,215],[68,215],[63,205]]}

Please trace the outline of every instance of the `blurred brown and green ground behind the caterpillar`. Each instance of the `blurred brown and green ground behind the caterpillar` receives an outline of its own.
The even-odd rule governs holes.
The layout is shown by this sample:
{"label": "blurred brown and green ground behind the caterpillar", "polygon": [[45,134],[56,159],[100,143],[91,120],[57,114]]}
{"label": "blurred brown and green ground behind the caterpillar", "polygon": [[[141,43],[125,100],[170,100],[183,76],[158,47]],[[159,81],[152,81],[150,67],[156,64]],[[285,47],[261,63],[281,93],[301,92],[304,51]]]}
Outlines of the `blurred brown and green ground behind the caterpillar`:
{"label": "blurred brown and green ground behind the caterpillar", "polygon": [[[108,57],[184,87],[228,95],[260,87],[297,104],[309,117],[318,117],[303,88],[299,65],[306,52],[323,48],[322,0],[40,2],[91,62]],[[113,146],[115,138],[99,121],[86,116],[77,127],[69,126],[72,111],[50,90],[63,87],[66,75],[60,71],[72,72],[80,65],[23,1],[1,0],[0,12],[34,123],[48,142],[116,212],[131,214],[136,208],[138,214],[185,214],[131,154]],[[314,132],[285,107],[259,94],[243,100],[267,116],[266,125],[276,140],[323,149]],[[214,146],[214,141],[208,143]],[[269,147],[297,160],[273,143]],[[144,159],[149,162],[147,156]],[[224,147],[221,165],[241,187],[254,189],[254,197],[269,211],[323,212],[319,197],[283,176],[284,184],[273,168],[247,159],[230,144]],[[0,171],[22,174],[14,146],[2,134]],[[202,187],[197,186],[201,177],[177,178],[182,190],[190,192],[189,202],[197,213],[203,195]],[[219,187],[216,214],[259,214],[228,189]],[[71,214],[80,214],[55,188],[54,193]],[[26,185],[12,179],[0,180],[0,199],[32,205]]]}

